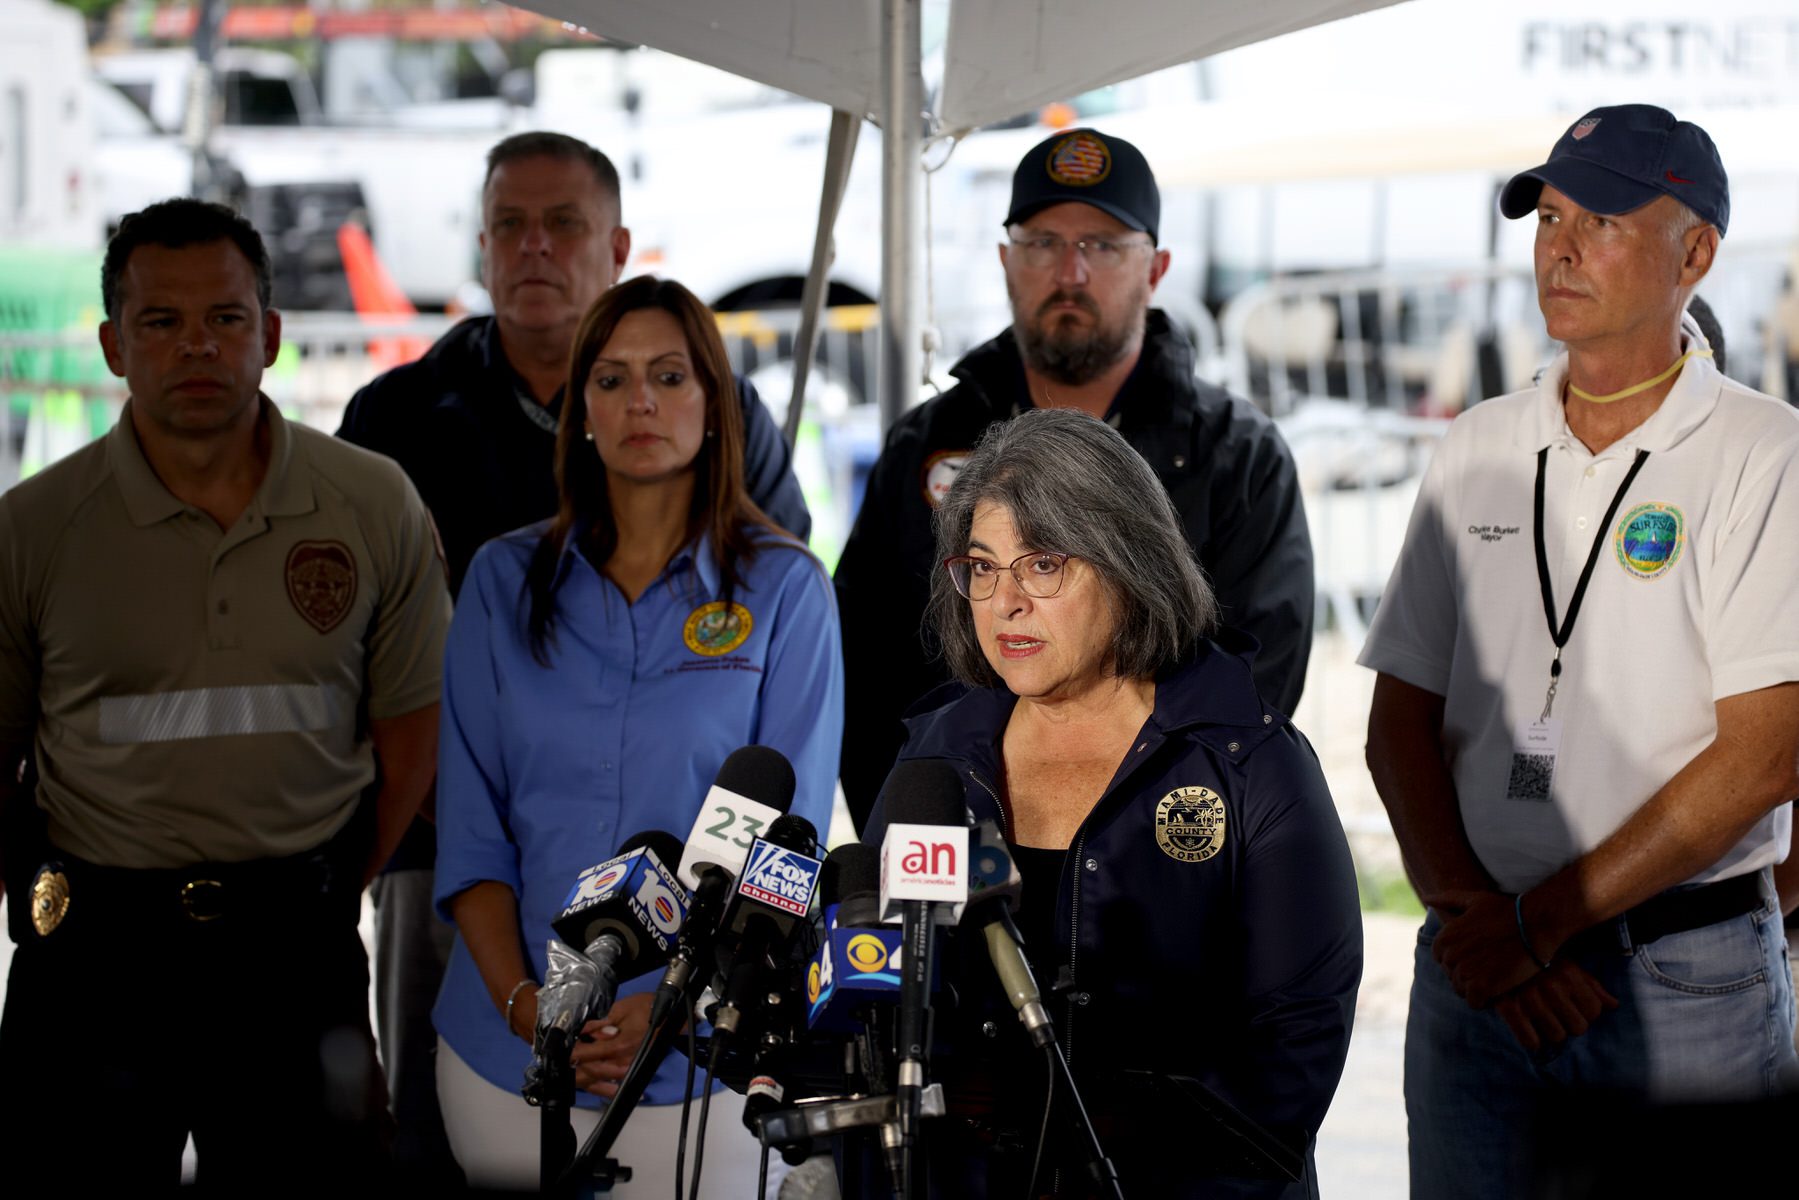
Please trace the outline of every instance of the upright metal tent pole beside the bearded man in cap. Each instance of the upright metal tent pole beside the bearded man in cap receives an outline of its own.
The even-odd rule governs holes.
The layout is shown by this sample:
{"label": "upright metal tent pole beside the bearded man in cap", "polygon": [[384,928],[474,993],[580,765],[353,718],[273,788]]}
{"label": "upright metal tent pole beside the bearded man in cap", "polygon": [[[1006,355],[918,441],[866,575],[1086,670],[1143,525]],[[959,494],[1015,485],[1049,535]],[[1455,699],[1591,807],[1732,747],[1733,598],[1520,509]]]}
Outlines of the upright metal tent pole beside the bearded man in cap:
{"label": "upright metal tent pole beside the bearded man in cap", "polygon": [[925,351],[925,76],[921,0],[882,0],[882,428],[919,392]]}

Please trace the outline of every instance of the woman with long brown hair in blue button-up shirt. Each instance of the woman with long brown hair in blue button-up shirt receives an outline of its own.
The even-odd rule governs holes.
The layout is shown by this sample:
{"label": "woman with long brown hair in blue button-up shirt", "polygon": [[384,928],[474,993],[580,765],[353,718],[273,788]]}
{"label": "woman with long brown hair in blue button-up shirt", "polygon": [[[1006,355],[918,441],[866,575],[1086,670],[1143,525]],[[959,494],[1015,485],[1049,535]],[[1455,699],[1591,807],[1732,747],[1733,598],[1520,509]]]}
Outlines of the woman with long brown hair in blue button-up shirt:
{"label": "woman with long brown hair in blue button-up shirt", "polygon": [[[482,1187],[538,1186],[520,1097],[550,919],[639,829],[685,837],[720,765],[761,743],[829,824],[842,732],[831,585],[743,491],[743,417],[712,313],[639,277],[581,322],[556,434],[556,516],[475,556],[444,660],[437,905],[457,945],[434,1009],[452,1150]],[[727,835],[730,831],[725,831]],[[748,847],[752,829],[738,831]],[[675,864],[669,864],[673,867]],[[621,988],[574,1052],[585,1139],[646,1033],[657,975]],[[615,1196],[673,1187],[685,1061],[671,1056],[612,1155]],[[705,1195],[754,1191],[741,1099],[714,1097]]]}

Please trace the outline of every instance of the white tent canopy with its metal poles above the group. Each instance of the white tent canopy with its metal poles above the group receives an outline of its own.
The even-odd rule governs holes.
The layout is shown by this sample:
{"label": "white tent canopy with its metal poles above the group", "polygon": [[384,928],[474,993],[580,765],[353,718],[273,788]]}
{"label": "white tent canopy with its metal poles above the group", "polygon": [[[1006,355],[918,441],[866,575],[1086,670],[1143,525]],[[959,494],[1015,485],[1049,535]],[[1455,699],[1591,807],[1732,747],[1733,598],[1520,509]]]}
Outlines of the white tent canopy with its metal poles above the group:
{"label": "white tent canopy with its metal poles above the group", "polygon": [[[527,0],[525,7],[765,83],[882,126],[883,423],[917,394],[921,349],[919,149],[925,126],[959,133],[1121,79],[1232,50],[1400,0]],[[941,81],[923,86],[925,11],[944,29]],[[948,14],[944,22],[943,16]],[[934,56],[935,58],[935,56]],[[934,72],[935,74],[935,72]],[[921,121],[894,119],[917,113]],[[795,345],[797,430],[822,306],[829,228],[855,121],[833,122],[820,234]],[[829,175],[829,173],[828,173]]]}

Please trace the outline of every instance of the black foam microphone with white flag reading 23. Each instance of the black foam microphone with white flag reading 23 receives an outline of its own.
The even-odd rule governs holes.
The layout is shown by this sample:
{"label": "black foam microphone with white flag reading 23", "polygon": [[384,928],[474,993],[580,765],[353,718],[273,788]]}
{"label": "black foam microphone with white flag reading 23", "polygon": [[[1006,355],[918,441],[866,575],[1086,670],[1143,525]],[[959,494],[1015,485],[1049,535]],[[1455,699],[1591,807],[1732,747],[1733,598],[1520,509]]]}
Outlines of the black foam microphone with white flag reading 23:
{"label": "black foam microphone with white flag reading 23", "polygon": [[693,901],[649,1007],[651,1029],[687,995],[698,964],[712,961],[730,885],[756,835],[793,806],[793,765],[770,747],[739,747],[718,768],[682,851],[680,878],[693,887]]}

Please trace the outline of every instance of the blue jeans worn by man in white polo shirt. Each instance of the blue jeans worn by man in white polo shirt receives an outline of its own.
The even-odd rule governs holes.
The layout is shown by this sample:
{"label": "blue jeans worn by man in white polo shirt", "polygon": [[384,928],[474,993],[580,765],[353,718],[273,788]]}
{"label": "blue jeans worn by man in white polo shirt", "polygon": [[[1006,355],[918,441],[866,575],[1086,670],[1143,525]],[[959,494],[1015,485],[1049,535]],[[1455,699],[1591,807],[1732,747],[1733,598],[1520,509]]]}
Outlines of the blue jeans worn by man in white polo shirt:
{"label": "blue jeans worn by man in white polo shirt", "polygon": [[[1763,876],[1767,878],[1767,876]],[[1527,1052],[1493,1009],[1470,1009],[1418,932],[1405,1025],[1412,1196],[1536,1195],[1545,1105],[1583,1090],[1648,1103],[1765,1099],[1790,1088],[1794,995],[1781,916],[1756,912],[1633,946],[1623,921],[1581,939],[1576,961],[1619,1000],[1562,1045]],[[1598,1096],[1596,1096],[1598,1103]]]}

